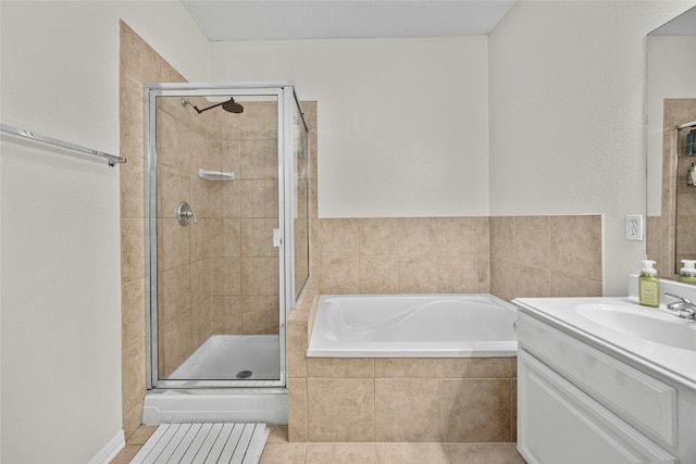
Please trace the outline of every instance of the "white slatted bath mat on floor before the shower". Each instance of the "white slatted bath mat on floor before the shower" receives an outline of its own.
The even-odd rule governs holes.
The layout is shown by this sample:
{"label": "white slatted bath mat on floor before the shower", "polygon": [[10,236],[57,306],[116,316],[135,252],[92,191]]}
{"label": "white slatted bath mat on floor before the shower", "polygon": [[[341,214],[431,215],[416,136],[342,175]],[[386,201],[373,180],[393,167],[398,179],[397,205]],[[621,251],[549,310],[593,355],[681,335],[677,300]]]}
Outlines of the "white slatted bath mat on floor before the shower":
{"label": "white slatted bath mat on floor before the shower", "polygon": [[257,464],[265,424],[163,424],[130,464]]}

